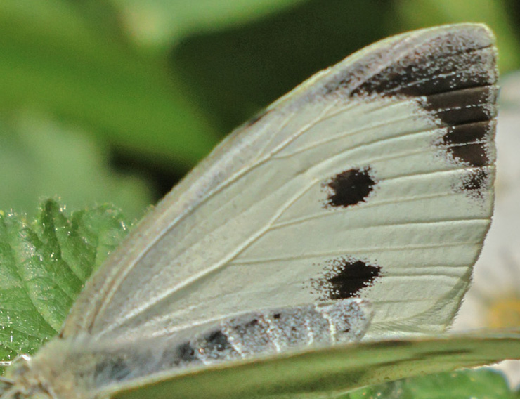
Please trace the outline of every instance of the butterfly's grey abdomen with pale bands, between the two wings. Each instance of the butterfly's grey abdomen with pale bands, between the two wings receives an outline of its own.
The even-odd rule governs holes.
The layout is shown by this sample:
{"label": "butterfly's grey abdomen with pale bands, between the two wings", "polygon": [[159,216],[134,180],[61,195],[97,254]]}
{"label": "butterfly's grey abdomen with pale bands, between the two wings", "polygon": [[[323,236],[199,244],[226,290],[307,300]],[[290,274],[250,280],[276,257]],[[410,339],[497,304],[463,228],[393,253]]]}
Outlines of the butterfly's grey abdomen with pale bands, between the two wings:
{"label": "butterfly's grey abdomen with pale bands, between the two wings", "polygon": [[357,341],[371,317],[370,303],[358,298],[243,313],[195,327],[194,334],[140,341],[131,351],[112,344],[98,353],[93,381],[103,388],[176,368]]}

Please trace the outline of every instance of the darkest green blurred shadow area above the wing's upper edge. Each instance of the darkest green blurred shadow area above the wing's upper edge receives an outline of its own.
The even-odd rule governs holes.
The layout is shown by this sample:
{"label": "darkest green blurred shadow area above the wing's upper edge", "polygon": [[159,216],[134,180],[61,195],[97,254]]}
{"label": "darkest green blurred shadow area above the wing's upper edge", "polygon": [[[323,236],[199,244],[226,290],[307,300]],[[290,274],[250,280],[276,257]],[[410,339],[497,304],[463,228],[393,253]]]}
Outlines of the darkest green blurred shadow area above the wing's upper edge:
{"label": "darkest green blurred shadow area above the wing's upper edge", "polygon": [[197,32],[170,59],[230,131],[311,75],[386,37],[394,21],[389,1],[305,1],[248,24]]}

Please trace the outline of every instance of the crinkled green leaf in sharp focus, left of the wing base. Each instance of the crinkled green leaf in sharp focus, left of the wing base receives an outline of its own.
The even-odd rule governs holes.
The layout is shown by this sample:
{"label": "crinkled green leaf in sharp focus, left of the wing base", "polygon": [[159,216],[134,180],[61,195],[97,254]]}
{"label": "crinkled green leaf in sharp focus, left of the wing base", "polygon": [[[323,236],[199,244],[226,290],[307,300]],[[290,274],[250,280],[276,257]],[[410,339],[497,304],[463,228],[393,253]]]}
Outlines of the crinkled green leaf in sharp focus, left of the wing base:
{"label": "crinkled green leaf in sharp focus, left of the wing base", "polygon": [[102,206],[65,214],[48,200],[37,221],[0,214],[0,358],[34,353],[59,331],[70,306],[126,235],[122,214]]}

